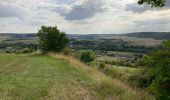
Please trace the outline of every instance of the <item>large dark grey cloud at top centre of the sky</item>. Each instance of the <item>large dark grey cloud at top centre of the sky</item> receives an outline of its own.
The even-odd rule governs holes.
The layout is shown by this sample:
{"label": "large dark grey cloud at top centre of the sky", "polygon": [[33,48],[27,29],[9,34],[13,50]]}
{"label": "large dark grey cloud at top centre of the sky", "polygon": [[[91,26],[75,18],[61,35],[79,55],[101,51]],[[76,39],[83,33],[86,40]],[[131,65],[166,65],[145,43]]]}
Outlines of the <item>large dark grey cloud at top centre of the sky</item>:
{"label": "large dark grey cloud at top centre of the sky", "polygon": [[69,21],[92,18],[97,13],[106,11],[105,2],[102,0],[80,0],[70,6],[59,7],[61,6],[56,6],[53,11],[55,10]]}

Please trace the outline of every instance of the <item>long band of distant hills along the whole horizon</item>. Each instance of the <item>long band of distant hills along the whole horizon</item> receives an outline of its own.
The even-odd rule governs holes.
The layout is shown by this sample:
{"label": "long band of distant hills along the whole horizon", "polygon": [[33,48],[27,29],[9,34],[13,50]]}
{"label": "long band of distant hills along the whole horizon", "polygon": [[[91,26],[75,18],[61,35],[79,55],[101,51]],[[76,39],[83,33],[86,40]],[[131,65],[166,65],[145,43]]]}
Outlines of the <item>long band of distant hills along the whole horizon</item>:
{"label": "long band of distant hills along the whole horizon", "polygon": [[[137,37],[137,38],[153,38],[157,40],[170,39],[170,32],[134,32],[126,34],[67,34],[71,39],[97,39],[97,38],[124,38]],[[29,39],[37,38],[36,33],[0,33],[0,37],[10,37],[11,39]]]}

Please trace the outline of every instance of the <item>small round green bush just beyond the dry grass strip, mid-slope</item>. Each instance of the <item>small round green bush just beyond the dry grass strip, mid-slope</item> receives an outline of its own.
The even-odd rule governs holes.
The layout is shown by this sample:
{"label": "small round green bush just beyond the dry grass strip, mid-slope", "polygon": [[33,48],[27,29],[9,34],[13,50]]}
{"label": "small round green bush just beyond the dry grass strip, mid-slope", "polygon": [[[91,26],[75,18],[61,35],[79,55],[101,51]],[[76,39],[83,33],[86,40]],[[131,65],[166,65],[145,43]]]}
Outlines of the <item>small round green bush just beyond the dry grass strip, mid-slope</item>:
{"label": "small round green bush just beyond the dry grass strip, mid-slope", "polygon": [[80,55],[81,61],[83,61],[85,63],[94,61],[95,58],[96,58],[96,54],[91,50],[83,51]]}

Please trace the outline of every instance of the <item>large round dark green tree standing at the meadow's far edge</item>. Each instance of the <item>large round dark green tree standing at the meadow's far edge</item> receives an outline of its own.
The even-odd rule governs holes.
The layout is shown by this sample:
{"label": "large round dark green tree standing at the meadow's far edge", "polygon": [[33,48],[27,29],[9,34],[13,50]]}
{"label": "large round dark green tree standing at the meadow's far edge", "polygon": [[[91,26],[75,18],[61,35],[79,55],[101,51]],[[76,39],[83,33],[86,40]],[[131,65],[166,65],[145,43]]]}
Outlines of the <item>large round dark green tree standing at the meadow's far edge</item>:
{"label": "large round dark green tree standing at the meadow's far edge", "polygon": [[42,26],[38,31],[38,37],[41,49],[44,52],[60,52],[69,43],[66,34],[58,30],[56,26]]}

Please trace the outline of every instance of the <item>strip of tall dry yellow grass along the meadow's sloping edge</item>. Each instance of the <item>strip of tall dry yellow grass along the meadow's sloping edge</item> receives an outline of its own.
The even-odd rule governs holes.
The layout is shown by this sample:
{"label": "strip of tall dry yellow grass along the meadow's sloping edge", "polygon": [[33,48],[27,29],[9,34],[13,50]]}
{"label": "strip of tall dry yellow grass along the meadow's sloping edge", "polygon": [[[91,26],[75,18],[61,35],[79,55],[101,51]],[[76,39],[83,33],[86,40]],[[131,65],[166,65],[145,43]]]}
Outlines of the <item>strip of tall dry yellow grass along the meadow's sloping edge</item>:
{"label": "strip of tall dry yellow grass along the meadow's sloping edge", "polygon": [[131,88],[127,84],[119,81],[117,79],[112,79],[105,74],[99,72],[95,68],[89,67],[86,64],[74,59],[71,56],[65,56],[62,54],[54,54],[49,53],[49,55],[53,58],[65,60],[72,64],[76,69],[80,69],[82,72],[93,77],[93,79],[97,80],[95,86],[90,87],[93,88],[94,92],[101,95],[102,97],[106,97],[103,99],[110,100],[154,100],[154,98],[149,95],[147,91]]}

